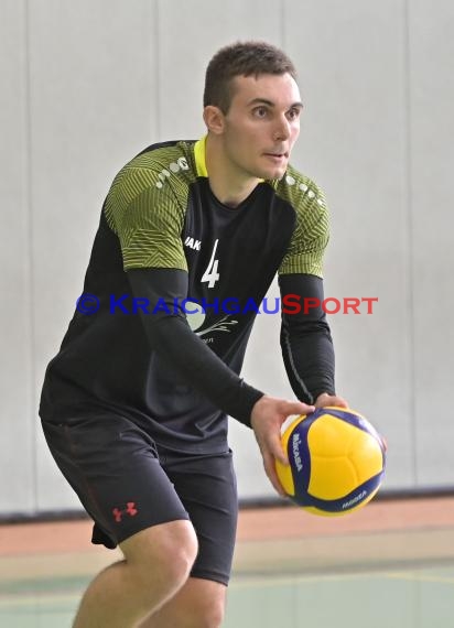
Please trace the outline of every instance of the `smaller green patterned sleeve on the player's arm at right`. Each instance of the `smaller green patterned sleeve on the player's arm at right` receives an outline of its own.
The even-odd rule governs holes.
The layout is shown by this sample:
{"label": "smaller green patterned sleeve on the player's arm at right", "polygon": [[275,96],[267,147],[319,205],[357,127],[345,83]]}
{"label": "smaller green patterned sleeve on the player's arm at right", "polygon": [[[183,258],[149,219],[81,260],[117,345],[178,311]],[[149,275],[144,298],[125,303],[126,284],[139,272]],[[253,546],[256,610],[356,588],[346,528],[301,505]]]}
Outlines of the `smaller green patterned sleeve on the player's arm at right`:
{"label": "smaller green patterned sleeve on the player's arm at right", "polygon": [[323,278],[323,257],[329,239],[326,202],[322,191],[309,180],[294,188],[289,201],[296,212],[295,228],[279,274],[305,273]]}

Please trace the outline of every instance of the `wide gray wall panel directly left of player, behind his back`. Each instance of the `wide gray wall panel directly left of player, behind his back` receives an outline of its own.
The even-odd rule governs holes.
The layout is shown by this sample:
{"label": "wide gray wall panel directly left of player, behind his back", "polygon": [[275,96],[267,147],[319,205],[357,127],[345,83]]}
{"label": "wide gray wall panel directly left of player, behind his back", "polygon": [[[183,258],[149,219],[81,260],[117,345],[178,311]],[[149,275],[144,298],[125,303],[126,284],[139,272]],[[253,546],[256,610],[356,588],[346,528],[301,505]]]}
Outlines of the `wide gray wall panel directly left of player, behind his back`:
{"label": "wide gray wall panel directly left of player, behind his back", "polygon": [[[134,11],[110,0],[32,3],[36,390],[82,292],[110,181],[155,136],[153,8],[149,0]],[[36,446],[40,508],[76,504],[41,434]]]}

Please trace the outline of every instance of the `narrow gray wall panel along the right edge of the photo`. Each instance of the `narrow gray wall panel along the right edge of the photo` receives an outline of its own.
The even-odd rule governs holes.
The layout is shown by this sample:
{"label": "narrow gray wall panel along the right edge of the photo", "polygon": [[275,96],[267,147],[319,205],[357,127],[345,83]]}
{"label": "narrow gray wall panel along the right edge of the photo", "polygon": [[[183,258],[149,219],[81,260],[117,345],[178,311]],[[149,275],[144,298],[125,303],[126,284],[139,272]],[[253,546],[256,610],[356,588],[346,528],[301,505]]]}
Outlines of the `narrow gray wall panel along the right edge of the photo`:
{"label": "narrow gray wall panel along the right edge of the photo", "polygon": [[454,485],[454,6],[410,3],[414,413],[418,485]]}

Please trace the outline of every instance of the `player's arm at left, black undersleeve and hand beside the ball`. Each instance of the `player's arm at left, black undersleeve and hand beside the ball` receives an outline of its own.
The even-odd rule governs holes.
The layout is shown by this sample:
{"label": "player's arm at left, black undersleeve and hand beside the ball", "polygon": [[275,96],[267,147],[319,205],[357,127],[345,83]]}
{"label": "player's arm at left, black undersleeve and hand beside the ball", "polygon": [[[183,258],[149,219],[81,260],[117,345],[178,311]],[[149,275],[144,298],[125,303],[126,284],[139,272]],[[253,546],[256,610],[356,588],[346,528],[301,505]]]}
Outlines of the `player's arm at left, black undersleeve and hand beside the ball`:
{"label": "player's arm at left, black undersleeve and hand beside the ball", "polygon": [[[187,294],[187,273],[182,270],[134,269],[128,271],[128,280],[133,296],[148,300],[150,312],[159,300],[173,312],[174,299],[181,303]],[[163,310],[140,311],[150,346],[215,405],[253,429],[264,470],[275,490],[285,495],[274,467],[274,458],[288,462],[280,427],[290,414],[309,413],[314,407],[269,397],[247,385],[191,331],[183,312],[170,315]]]}

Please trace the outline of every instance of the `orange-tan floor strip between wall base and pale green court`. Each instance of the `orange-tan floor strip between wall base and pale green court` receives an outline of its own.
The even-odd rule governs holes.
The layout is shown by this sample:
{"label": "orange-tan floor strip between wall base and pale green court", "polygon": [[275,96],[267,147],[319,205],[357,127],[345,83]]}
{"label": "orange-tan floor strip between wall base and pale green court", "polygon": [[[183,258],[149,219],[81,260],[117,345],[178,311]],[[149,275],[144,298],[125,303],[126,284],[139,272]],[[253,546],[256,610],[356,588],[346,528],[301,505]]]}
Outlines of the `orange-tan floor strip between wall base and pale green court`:
{"label": "orange-tan floor strip between wall base and pale green court", "polygon": [[[118,551],[91,545],[90,531],[88,520],[0,526],[0,582],[23,574],[24,565],[29,574],[63,573],[68,554],[80,574],[118,557]],[[454,560],[454,497],[377,500],[335,518],[296,507],[244,509],[235,571],[307,573],[445,560]]]}

